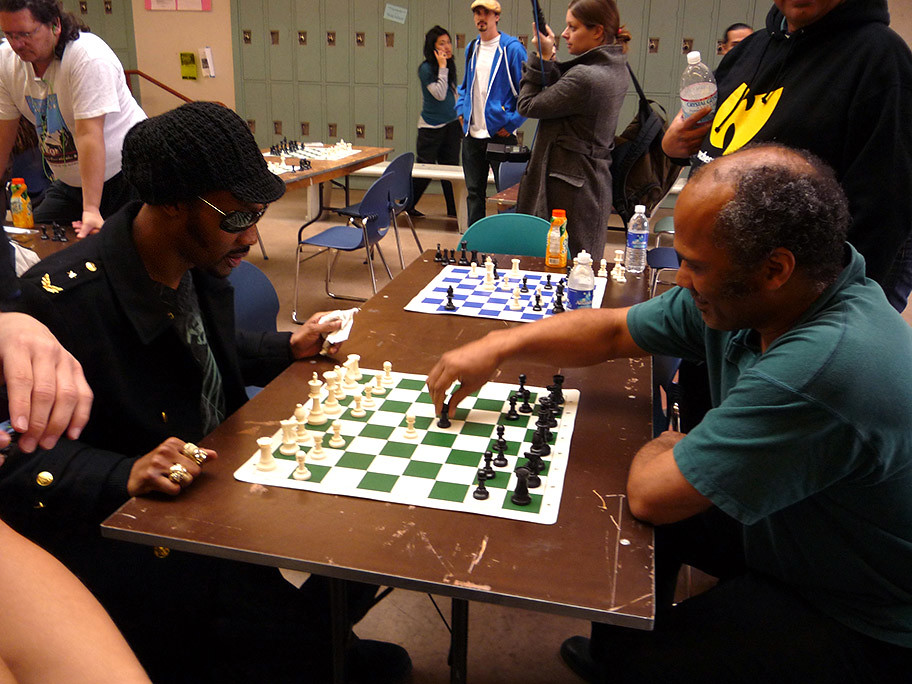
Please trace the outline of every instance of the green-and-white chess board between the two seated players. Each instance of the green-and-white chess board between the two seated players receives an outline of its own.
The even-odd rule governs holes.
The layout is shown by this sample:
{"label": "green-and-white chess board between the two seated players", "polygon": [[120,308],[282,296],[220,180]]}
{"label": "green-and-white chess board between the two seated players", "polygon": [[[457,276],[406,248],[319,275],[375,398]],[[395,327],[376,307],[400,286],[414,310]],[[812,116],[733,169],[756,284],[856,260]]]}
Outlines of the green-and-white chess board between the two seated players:
{"label": "green-and-white chess board between the two seated players", "polygon": [[[362,370],[360,383],[371,382],[383,371]],[[309,432],[325,433],[324,457],[313,460],[313,446],[300,447],[308,453],[306,466],[309,480],[296,480],[297,467],[293,455],[281,453],[282,431],[271,436],[270,448],[276,459],[271,471],[257,469],[260,452],[257,450],[235,472],[236,479],[266,486],[289,487],[326,494],[341,494],[376,499],[411,506],[423,506],[464,513],[491,515],[513,520],[542,524],[557,521],[567,469],[567,454],[573,433],[573,423],[579,402],[579,391],[563,390],[564,404],[557,416],[558,426],[552,428],[551,454],[544,457],[545,468],[540,473],[542,484],[529,490],[532,503],[517,506],[510,501],[516,486],[513,470],[525,464],[535,433],[538,397],[548,391],[529,387],[533,413],[520,413],[518,420],[506,418],[508,397],[517,387],[489,382],[473,396],[467,397],[455,411],[450,411],[451,426],[440,428],[434,406],[425,383],[426,376],[393,372],[394,386],[375,396],[377,406],[366,408],[367,415],[355,418],[352,393],[339,400],[344,409],[336,416],[342,424],[345,446],[328,446],[332,435],[332,417],[323,425],[308,425]],[[326,392],[325,386],[323,390]],[[306,390],[302,391],[306,398]],[[303,399],[302,399],[303,401]],[[518,405],[519,406],[519,405]],[[517,408],[518,408],[517,406]],[[294,406],[289,407],[289,416]],[[417,436],[405,436],[407,413],[415,416]],[[285,418],[283,416],[283,418]],[[477,500],[477,471],[484,466],[484,452],[492,450],[497,439],[496,427],[504,425],[507,440],[505,456],[508,465],[495,467],[493,480],[485,485],[490,493],[486,500]]]}

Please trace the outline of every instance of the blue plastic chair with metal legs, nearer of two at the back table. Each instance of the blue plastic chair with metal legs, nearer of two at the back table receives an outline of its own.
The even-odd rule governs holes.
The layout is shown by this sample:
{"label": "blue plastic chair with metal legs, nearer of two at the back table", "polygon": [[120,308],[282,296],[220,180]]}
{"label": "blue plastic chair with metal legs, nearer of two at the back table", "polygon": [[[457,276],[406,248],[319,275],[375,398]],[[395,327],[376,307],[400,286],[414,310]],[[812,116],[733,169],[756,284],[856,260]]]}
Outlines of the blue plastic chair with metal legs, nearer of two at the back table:
{"label": "blue plastic chair with metal legs, nearer of two at the back table", "polygon": [[[301,264],[309,259],[313,259],[323,252],[327,253],[325,287],[326,294],[330,297],[335,299],[350,299],[359,302],[366,300],[365,297],[336,294],[330,291],[329,283],[332,280],[332,272],[336,265],[336,259],[339,257],[339,252],[354,252],[362,248],[364,249],[367,256],[367,267],[370,271],[371,286],[374,289],[374,294],[377,294],[377,278],[374,275],[374,251],[380,255],[380,260],[383,262],[384,268],[386,268],[386,274],[389,276],[390,280],[392,280],[393,274],[389,270],[386,258],[383,256],[379,244],[380,240],[383,239],[389,231],[391,216],[390,188],[392,187],[392,183],[393,176],[391,174],[384,174],[374,181],[373,185],[364,193],[364,199],[360,202],[360,218],[352,218],[347,225],[332,226],[322,233],[318,233],[313,237],[304,238],[298,242],[298,251],[295,259],[295,310],[292,314],[292,318],[296,323],[304,322],[303,320],[298,320],[297,315]],[[356,222],[358,225],[355,225]],[[305,246],[319,247],[320,249],[314,254],[302,259],[301,253],[304,251]]]}

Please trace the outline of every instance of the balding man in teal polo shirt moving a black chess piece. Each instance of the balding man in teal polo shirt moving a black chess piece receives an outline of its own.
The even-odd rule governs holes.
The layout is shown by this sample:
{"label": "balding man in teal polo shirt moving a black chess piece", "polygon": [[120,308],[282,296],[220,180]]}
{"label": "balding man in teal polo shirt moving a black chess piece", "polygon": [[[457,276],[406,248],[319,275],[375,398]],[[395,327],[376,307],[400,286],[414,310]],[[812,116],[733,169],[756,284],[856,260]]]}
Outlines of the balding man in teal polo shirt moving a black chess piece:
{"label": "balding man in teal polo shirt moving a black chess piece", "polygon": [[[713,409],[634,457],[630,509],[656,525],[655,631],[594,625],[561,653],[590,681],[895,681],[912,665],[912,329],[845,242],[818,159],[745,148],[675,208],[679,287],[448,352],[458,403],[507,358],[705,361]],[[602,457],[593,454],[593,458]],[[681,562],[721,578],[671,605]]]}

